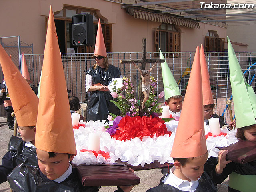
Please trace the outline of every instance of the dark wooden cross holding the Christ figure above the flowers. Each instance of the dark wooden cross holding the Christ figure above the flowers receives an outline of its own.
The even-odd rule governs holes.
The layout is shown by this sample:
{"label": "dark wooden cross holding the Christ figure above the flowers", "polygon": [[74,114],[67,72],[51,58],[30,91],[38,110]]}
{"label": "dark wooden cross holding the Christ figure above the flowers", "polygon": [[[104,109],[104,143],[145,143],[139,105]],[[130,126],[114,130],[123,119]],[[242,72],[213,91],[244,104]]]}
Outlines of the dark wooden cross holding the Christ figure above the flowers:
{"label": "dark wooden cross holding the Christ figure above the flowers", "polygon": [[[142,38],[142,56],[141,59],[133,60],[134,63],[141,63],[141,70],[144,70],[146,67],[146,63],[155,63],[157,59],[146,59],[146,38]],[[120,63],[131,63],[132,60],[120,60]],[[158,62],[163,63],[165,62],[165,59],[158,59]],[[142,89],[140,88],[139,91],[139,98],[140,98],[140,106],[139,106],[139,112],[140,116],[143,116],[143,109],[142,109],[142,101],[143,101],[143,94]]]}

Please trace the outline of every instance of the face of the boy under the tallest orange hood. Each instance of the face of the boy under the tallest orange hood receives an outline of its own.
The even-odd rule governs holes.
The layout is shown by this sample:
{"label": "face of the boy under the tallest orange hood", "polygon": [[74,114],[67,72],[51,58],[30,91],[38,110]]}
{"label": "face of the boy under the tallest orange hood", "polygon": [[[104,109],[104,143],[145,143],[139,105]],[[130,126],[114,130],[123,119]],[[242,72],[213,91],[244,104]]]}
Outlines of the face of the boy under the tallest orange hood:
{"label": "face of the boy under the tallest orange hood", "polygon": [[54,180],[62,176],[69,166],[69,161],[72,161],[74,154],[68,158],[68,154],[56,153],[55,157],[49,158],[49,153],[36,149],[38,166],[42,173],[47,176],[48,179]]}

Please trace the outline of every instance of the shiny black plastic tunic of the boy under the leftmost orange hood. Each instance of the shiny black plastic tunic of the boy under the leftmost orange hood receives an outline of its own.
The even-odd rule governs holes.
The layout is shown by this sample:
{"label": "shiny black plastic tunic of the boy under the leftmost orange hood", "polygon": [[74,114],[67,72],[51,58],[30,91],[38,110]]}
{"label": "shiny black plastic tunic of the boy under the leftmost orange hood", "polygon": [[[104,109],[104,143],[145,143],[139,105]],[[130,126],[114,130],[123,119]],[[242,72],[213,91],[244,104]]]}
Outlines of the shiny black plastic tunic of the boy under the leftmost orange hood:
{"label": "shiny black plastic tunic of the boy under the leftmost orange hood", "polygon": [[0,183],[6,182],[8,174],[21,163],[38,166],[36,148],[26,147],[21,138],[12,136],[8,152],[2,158],[0,165]]}

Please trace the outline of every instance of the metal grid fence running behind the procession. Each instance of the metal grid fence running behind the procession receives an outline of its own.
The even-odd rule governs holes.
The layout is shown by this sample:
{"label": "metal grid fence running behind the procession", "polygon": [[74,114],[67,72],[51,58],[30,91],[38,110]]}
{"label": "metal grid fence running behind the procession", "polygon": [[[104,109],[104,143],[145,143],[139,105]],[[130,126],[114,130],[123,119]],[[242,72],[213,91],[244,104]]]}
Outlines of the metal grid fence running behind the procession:
{"label": "metal grid fence running behind the procession", "polygon": [[[182,96],[184,96],[195,52],[163,52],[163,54],[178,86],[180,87]],[[218,115],[223,115],[228,123],[230,119],[226,113],[226,101],[229,100],[232,95],[228,69],[228,52],[205,52],[205,54],[210,74],[212,94],[216,105],[216,113]],[[86,71],[90,66],[94,65],[92,56],[93,54],[62,54],[67,88],[71,90],[70,95],[77,96],[82,103],[87,103],[85,76]],[[130,78],[135,87],[136,85],[138,87],[140,82],[140,74],[132,64],[121,64],[120,60],[135,60],[141,58],[141,56],[140,52],[108,54],[109,63],[118,67],[122,72],[122,76]],[[256,52],[236,52],[236,56],[240,62],[242,70],[245,72],[246,80],[255,90],[256,84],[254,77]],[[25,55],[25,58],[30,71],[32,84],[36,86],[40,80],[43,54]],[[146,58],[159,58],[159,53],[148,52]],[[140,64],[138,65],[140,66]],[[146,69],[149,69],[151,66],[152,63],[146,64]],[[154,76],[154,78],[158,80],[156,91],[157,93],[160,93],[164,90],[160,63],[158,63],[152,70],[151,76]],[[137,94],[138,90],[136,90],[136,96]],[[164,98],[160,99],[159,102],[164,103]],[[193,109],[191,109],[191,115],[192,114]]]}

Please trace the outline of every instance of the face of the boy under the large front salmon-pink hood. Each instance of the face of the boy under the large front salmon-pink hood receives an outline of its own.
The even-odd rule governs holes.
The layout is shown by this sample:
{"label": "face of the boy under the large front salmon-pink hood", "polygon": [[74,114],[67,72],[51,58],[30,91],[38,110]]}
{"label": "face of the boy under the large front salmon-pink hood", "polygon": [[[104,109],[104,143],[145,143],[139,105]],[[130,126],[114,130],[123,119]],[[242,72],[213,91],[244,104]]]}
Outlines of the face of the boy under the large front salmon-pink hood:
{"label": "face of the boy under the large front salmon-pink hood", "polygon": [[208,153],[196,157],[194,159],[190,158],[184,166],[182,166],[178,161],[174,162],[175,168],[178,170],[178,175],[174,173],[178,178],[183,180],[196,181],[204,172],[204,164],[208,158]]}

